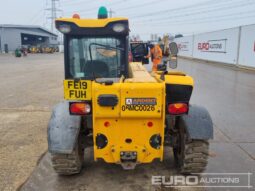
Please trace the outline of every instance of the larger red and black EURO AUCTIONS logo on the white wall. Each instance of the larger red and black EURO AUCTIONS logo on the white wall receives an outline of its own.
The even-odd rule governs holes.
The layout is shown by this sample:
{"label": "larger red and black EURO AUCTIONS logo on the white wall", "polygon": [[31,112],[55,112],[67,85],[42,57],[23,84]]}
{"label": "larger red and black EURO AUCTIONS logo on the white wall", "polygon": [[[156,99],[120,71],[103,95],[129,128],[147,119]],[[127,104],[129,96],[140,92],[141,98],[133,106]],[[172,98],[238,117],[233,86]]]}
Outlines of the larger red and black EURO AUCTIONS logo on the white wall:
{"label": "larger red and black EURO AUCTIONS logo on the white wall", "polygon": [[207,42],[199,42],[198,50],[201,52],[227,53],[227,39],[208,40]]}

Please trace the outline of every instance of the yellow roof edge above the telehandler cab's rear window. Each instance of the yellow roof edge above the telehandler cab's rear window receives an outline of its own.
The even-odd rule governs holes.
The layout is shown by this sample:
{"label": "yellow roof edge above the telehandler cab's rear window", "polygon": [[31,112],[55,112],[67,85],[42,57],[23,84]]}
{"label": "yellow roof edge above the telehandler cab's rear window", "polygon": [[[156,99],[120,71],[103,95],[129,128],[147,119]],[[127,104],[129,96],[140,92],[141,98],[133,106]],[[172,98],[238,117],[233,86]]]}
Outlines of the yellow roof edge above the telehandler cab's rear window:
{"label": "yellow roof edge above the telehandler cab's rear window", "polygon": [[117,21],[127,21],[127,18],[106,18],[106,19],[75,19],[59,18],[56,22],[70,22],[81,28],[103,28],[107,24]]}

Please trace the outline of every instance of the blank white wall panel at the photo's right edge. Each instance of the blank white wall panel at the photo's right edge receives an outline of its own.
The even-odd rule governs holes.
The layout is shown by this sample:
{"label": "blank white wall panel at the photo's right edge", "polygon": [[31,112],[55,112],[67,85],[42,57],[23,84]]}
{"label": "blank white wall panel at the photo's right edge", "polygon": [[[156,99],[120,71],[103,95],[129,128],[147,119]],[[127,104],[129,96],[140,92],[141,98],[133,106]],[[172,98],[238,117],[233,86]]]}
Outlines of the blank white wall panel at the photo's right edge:
{"label": "blank white wall panel at the photo's right edge", "polygon": [[238,64],[255,67],[255,25],[241,27]]}

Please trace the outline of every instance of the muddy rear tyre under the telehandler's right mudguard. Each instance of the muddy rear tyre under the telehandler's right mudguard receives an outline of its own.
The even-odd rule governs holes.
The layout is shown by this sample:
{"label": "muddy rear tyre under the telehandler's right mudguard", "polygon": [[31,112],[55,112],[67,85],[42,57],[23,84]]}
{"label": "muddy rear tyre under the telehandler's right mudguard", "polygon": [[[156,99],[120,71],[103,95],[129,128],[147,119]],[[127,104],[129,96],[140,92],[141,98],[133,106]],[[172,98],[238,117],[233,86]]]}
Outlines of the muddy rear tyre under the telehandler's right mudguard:
{"label": "muddy rear tyre under the telehandler's right mudguard", "polygon": [[202,173],[207,166],[208,140],[190,140],[187,138],[183,123],[178,128],[177,145],[173,148],[177,168],[182,174]]}

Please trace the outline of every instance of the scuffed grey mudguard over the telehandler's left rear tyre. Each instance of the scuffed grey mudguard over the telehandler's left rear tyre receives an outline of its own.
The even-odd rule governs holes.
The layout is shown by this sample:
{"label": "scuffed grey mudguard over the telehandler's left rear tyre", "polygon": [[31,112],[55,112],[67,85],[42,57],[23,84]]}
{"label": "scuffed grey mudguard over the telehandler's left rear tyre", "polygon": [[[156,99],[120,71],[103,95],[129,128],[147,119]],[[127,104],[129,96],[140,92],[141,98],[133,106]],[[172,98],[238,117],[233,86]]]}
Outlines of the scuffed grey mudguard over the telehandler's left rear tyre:
{"label": "scuffed grey mudguard over the telehandler's left rear tyre", "polygon": [[61,102],[53,109],[48,125],[48,150],[51,153],[71,154],[81,126],[81,117],[70,115],[69,102]]}

